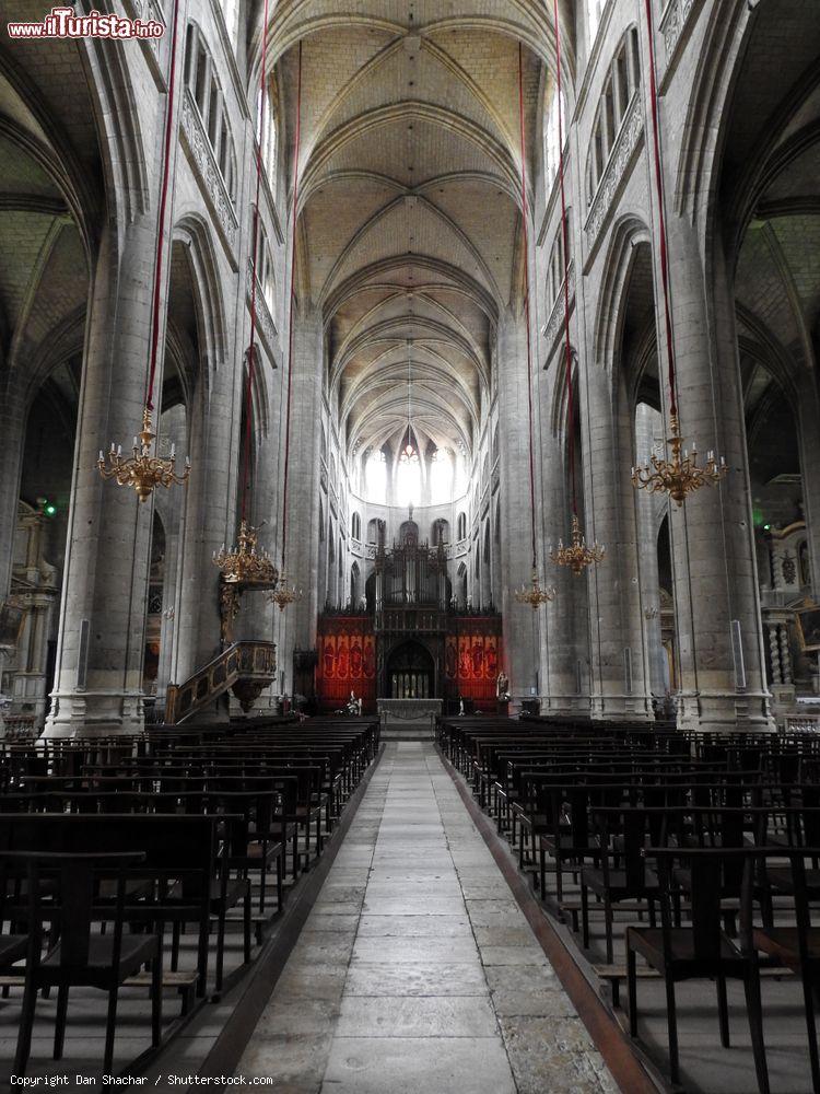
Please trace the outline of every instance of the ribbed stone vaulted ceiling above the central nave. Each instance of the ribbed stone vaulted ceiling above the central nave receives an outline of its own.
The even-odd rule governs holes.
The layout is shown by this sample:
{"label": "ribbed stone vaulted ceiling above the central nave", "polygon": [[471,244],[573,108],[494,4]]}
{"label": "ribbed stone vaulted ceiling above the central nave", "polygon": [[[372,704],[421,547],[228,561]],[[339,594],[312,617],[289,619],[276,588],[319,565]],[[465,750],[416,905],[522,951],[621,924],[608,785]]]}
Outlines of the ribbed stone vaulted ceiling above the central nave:
{"label": "ribbed stone vaulted ceiling above the central nave", "polygon": [[[340,22],[338,8],[290,3],[272,26],[303,37],[297,281],[323,310],[343,443],[398,446],[410,360],[420,443],[469,454],[499,317],[520,300],[518,38],[531,178],[549,12],[365,0]],[[291,92],[295,57],[280,65]]]}

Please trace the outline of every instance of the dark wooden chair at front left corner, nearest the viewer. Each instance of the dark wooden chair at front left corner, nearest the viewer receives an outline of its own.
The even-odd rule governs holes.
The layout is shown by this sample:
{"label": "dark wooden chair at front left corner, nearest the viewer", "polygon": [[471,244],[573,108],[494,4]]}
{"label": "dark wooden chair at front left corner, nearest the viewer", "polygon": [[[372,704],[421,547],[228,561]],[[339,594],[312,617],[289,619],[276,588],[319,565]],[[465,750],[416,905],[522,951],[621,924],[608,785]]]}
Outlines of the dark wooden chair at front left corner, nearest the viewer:
{"label": "dark wooden chair at front left corner, nearest the viewer", "polygon": [[[23,1013],[17,1035],[14,1073],[23,1075],[28,1061],[37,993],[56,987],[57,1022],[54,1058],[62,1057],[69,989],[98,988],[108,993],[103,1067],[110,1072],[120,985],[145,965],[151,965],[151,1039],[160,1044],[162,1033],[162,935],[125,934],[126,876],[129,868],[144,860],[141,851],[108,853],[3,852],[7,863],[25,866],[26,900],[14,918],[25,916],[28,947],[25,964]],[[99,887],[116,882],[114,905],[97,905]],[[44,884],[46,883],[46,884]],[[113,930],[99,934],[94,922],[107,921]],[[51,940],[44,945],[44,927]]]}

